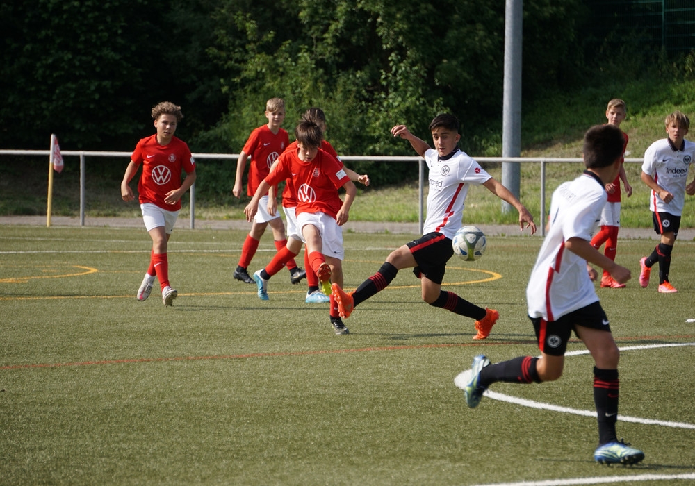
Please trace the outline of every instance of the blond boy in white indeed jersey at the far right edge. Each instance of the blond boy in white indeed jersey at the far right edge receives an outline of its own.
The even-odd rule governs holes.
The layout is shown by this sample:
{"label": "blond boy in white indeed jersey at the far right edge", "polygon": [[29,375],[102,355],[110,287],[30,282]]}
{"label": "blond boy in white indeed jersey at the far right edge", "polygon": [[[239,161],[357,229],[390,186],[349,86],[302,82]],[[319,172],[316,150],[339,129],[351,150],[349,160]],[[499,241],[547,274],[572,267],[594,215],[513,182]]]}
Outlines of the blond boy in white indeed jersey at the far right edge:
{"label": "blond boy in white indeed jersey at the far right edge", "polygon": [[690,120],[680,111],[666,117],[667,138],[657,140],[644,153],[642,181],[651,189],[649,209],[654,231],[661,235],[651,255],[639,260],[639,285],[649,285],[651,267],[659,262],[659,292],[678,292],[669,282],[671,252],[678,237],[680,216],[685,203],[685,192],[695,194],[695,180],[686,185],[688,168],[695,158],[695,143],[685,140]]}

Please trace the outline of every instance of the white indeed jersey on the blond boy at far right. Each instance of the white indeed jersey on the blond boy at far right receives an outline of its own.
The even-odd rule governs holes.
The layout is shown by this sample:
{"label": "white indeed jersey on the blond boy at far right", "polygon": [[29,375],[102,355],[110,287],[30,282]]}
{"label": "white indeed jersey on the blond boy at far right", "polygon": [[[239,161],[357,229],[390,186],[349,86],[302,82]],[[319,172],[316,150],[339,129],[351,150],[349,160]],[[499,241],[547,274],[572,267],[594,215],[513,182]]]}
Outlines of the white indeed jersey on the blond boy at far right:
{"label": "white indeed jersey on the blond boy at far right", "polygon": [[644,152],[642,172],[652,176],[654,181],[673,194],[670,203],[664,203],[654,191],[649,194],[649,209],[652,212],[669,212],[680,216],[685,204],[685,186],[688,167],[695,157],[695,143],[683,141],[683,149],[678,150],[668,138],[657,140]]}

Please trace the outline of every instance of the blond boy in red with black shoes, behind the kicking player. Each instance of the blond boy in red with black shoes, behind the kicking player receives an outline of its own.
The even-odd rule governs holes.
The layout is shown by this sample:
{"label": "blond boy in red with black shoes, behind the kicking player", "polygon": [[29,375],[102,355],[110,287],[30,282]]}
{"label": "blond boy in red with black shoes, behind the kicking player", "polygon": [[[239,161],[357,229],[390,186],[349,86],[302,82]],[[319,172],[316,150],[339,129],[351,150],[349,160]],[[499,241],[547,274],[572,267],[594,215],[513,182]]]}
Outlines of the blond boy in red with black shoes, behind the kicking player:
{"label": "blond boy in red with black shoes, behind the kicking player", "polygon": [[[244,144],[239,160],[236,164],[236,181],[232,194],[236,197],[241,196],[242,183],[241,179],[244,175],[246,160],[251,157],[251,165],[249,167],[249,181],[247,194],[253,196],[256,194],[256,189],[259,183],[263,181],[265,176],[270,171],[272,162],[287,148],[290,144],[287,131],[281,128],[282,122],[285,119],[285,102],[281,98],[271,98],[265,103],[265,117],[268,123],[259,126],[251,132],[248,140]],[[241,280],[244,283],[254,283],[254,279],[248,274],[247,267],[251,263],[252,258],[256,254],[259,247],[259,240],[265,233],[265,228],[270,224],[272,229],[272,237],[275,241],[275,249],[280,251],[287,244],[285,237],[285,226],[282,223],[279,213],[277,212],[277,201],[275,201],[276,187],[271,187],[270,192],[272,197],[268,197],[268,192],[263,194],[263,198],[259,204],[259,211],[252,221],[251,231],[244,241],[241,249],[241,256],[234,271],[234,278]],[[287,268],[290,271],[290,281],[299,283],[306,274],[302,269],[297,267],[295,260],[287,262]]]}

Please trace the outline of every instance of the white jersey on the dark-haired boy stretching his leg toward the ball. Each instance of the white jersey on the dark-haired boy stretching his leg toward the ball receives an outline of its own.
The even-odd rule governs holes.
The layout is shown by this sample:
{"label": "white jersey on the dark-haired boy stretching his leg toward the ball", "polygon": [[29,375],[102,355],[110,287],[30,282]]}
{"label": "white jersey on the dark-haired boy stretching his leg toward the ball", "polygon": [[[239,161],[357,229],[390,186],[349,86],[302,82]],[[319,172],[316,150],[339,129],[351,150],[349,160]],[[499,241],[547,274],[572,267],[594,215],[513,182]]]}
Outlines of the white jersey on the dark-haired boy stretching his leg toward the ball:
{"label": "white jersey on the dark-haired boy stretching his leg toward the ball", "polygon": [[486,183],[491,176],[460,150],[440,160],[436,150],[428,149],[425,162],[430,167],[430,194],[427,195],[427,218],[423,233],[436,231],[453,238],[461,228],[468,187]]}

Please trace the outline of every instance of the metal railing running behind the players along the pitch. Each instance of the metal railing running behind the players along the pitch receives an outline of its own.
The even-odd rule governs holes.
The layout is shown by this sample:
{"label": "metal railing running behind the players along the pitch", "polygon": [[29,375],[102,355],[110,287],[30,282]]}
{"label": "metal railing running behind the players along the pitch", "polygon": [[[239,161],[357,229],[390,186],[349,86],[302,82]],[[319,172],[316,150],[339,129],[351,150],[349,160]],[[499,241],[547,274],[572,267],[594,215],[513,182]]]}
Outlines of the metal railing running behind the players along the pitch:
{"label": "metal railing running behind the players along the pitch", "polygon": [[[0,156],[50,156],[49,150],[0,150]],[[124,157],[129,158],[131,152],[99,152],[99,151],[60,151],[63,156],[79,156],[80,158],[80,226],[85,226],[85,158],[86,157]],[[193,153],[196,160],[218,159],[236,160],[238,153]],[[541,204],[539,221],[546,219],[546,165],[563,162],[582,162],[582,158],[561,157],[473,157],[477,162],[518,162],[540,163],[541,165]],[[341,156],[343,162],[418,162],[418,229],[423,231],[425,224],[425,160],[418,156]],[[641,158],[626,158],[626,163],[641,163]],[[540,224],[541,236],[545,236],[545,224]],[[190,187],[190,228],[195,228],[195,184]]]}

